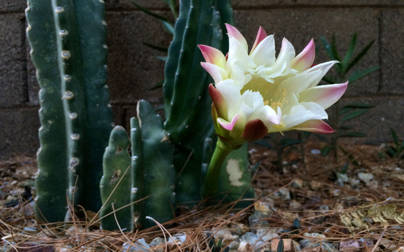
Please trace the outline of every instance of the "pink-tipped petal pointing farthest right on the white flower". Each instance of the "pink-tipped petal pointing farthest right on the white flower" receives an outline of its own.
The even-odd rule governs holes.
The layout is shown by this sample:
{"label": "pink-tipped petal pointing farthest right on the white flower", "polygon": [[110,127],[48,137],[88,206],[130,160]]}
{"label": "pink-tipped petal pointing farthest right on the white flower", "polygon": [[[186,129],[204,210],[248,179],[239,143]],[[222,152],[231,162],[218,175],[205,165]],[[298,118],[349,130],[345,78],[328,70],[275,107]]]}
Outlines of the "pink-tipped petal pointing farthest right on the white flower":
{"label": "pink-tipped petal pointing farthest right on the white flower", "polygon": [[315,102],[327,109],[345,93],[348,82],[308,88],[300,93],[299,102]]}

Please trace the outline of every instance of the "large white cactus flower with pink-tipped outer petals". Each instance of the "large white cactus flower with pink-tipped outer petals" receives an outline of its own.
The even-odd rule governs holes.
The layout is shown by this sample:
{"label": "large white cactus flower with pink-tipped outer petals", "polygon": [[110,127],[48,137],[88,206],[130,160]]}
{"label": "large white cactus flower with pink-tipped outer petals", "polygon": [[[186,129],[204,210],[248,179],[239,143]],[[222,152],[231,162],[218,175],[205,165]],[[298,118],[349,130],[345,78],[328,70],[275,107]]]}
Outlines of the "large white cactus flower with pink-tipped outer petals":
{"label": "large white cactus flower with pink-tipped outer petals", "polygon": [[322,119],[328,118],[325,109],[342,96],[347,83],[317,85],[337,61],[313,65],[313,39],[295,56],[292,44],[284,38],[275,57],[274,36],[267,36],[262,27],[248,53],[241,33],[231,25],[226,27],[228,55],[199,45],[206,60],[201,65],[215,82],[209,87],[212,117],[224,144],[239,146],[268,133],[290,130],[334,132]]}

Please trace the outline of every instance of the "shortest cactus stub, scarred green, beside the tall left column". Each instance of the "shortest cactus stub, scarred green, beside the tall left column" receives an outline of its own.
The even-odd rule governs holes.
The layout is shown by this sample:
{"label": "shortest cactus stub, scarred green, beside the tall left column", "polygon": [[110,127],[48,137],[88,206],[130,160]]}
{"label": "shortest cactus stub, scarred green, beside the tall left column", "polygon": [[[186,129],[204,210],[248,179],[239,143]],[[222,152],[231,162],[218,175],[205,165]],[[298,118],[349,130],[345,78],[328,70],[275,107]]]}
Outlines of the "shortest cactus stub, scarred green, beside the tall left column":
{"label": "shortest cactus stub, scarred green, beside the tall left column", "polygon": [[[115,127],[104,153],[104,175],[99,184],[103,200],[99,217],[103,229],[133,230],[133,207],[130,205],[132,169],[128,152],[129,145],[129,137],[125,129],[121,126]],[[113,213],[114,210],[115,213]]]}

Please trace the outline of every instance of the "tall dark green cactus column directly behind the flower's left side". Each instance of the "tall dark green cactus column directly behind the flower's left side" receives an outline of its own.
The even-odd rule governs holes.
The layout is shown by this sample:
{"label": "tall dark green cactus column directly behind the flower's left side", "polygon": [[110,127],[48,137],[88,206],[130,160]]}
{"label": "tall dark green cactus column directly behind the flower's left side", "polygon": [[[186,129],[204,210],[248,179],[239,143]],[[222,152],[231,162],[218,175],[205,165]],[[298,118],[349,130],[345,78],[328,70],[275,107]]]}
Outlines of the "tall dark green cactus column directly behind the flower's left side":
{"label": "tall dark green cactus column directly behind the flower's left side", "polygon": [[213,125],[208,85],[213,82],[200,66],[204,60],[198,44],[214,46],[224,53],[224,23],[233,23],[230,1],[181,1],[173,41],[165,68],[165,130],[175,145],[174,166],[178,173],[179,202],[200,200],[200,165],[204,140]]}

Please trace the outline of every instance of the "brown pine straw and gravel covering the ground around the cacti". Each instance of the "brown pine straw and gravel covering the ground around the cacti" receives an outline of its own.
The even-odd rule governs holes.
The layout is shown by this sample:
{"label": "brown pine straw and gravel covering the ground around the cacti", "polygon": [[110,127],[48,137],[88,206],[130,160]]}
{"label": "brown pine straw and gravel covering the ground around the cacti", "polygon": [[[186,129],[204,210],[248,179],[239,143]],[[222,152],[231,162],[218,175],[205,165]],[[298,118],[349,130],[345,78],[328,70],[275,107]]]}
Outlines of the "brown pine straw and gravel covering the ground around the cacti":
{"label": "brown pine straw and gravel covering the ground around the cacti", "polygon": [[[302,252],[402,252],[404,162],[381,159],[378,152],[384,151],[384,147],[380,145],[345,144],[344,148],[359,165],[349,164],[343,174],[342,167],[348,158],[339,153],[338,161],[334,162],[331,155],[316,154],[322,145],[309,140],[305,146],[305,164],[299,162],[279,169],[271,163],[276,159],[274,151],[251,144],[251,163],[261,160],[262,164],[252,181],[257,198],[249,208],[235,209],[234,204],[182,207],[181,214],[170,223],[164,223],[164,227],[132,233],[100,230],[95,213],[87,213],[86,219],[74,219],[70,223],[38,225],[32,209],[35,159],[16,156],[0,160],[0,251],[133,251],[135,247],[142,248],[139,241],[142,238],[149,244],[157,237],[168,240],[172,235],[186,234],[185,240],[172,237],[172,242],[143,249],[219,252],[234,241],[234,237],[267,228],[267,233],[275,232],[278,236],[238,249],[276,251],[281,237],[285,252],[298,249]],[[292,161],[299,155],[297,150],[291,150],[284,160]],[[373,178],[364,177],[368,173]],[[335,181],[336,176],[339,180]],[[296,228],[291,227],[296,218],[300,227],[294,230]],[[209,246],[212,236],[208,237],[207,233],[216,233],[215,244],[222,238],[222,246]],[[307,239],[320,245],[303,247],[296,242]],[[237,249],[234,242],[231,244],[231,250]]]}

